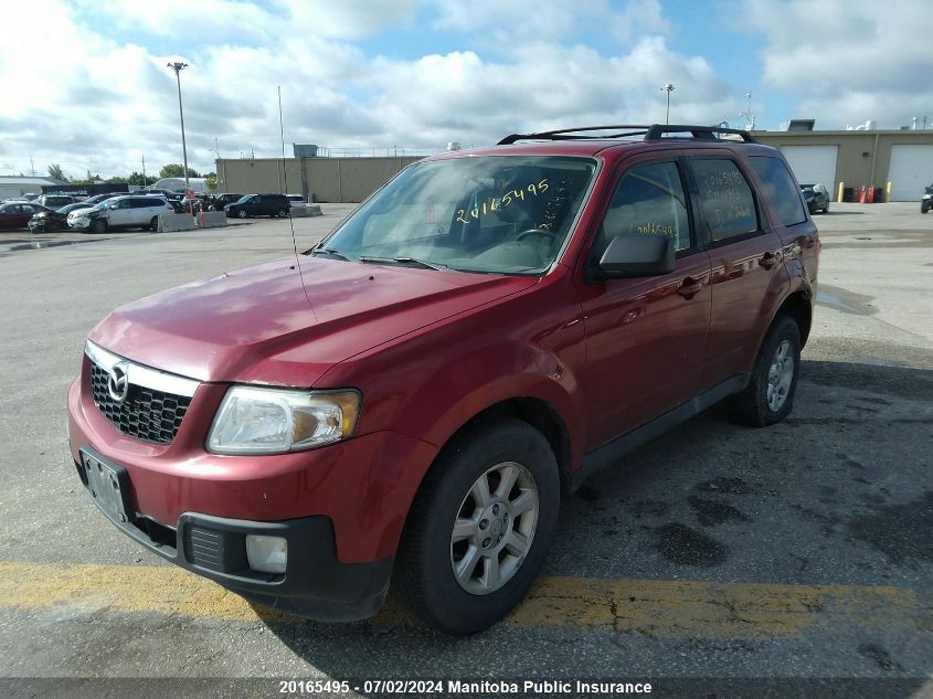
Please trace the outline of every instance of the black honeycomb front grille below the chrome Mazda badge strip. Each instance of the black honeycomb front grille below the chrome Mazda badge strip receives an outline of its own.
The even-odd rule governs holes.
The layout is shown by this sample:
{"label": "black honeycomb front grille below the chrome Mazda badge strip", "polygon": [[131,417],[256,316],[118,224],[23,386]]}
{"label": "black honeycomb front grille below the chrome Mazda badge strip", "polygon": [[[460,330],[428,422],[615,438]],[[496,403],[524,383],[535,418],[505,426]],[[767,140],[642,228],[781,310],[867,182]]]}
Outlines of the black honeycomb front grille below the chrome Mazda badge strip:
{"label": "black honeycomb front grille below the chrome Mazda badge strip", "polygon": [[107,371],[92,360],[91,394],[100,413],[128,437],[170,444],[191,399],[130,383],[126,400],[117,403],[107,391]]}

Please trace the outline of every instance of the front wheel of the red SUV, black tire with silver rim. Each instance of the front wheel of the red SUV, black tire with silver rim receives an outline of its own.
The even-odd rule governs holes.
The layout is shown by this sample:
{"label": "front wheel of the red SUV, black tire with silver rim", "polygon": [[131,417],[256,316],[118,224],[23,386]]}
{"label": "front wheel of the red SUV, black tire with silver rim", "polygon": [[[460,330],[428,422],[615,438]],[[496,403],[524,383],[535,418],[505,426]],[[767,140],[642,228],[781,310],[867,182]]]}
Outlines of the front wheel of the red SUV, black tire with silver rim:
{"label": "front wheel of the red SUV, black tire with silver rim", "polygon": [[[498,493],[512,474],[516,485]],[[474,495],[480,481],[489,496],[485,508]],[[447,634],[488,628],[521,602],[541,571],[559,509],[558,463],[540,432],[518,420],[467,428],[441,453],[409,513],[395,565],[402,601]],[[467,520],[473,527],[463,526]],[[494,558],[498,580],[489,571]]]}

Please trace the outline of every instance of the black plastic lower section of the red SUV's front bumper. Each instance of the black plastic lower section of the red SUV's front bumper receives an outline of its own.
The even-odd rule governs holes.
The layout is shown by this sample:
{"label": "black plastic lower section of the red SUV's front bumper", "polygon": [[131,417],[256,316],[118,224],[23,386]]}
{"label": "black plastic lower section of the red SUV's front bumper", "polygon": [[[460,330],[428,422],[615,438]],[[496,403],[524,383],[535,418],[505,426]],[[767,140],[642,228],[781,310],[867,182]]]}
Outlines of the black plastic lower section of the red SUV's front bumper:
{"label": "black plastic lower section of the red SUV's front bumper", "polygon": [[[85,468],[95,460],[116,466],[91,448],[75,462],[87,487]],[[115,516],[94,499],[98,509],[137,543],[185,570],[266,606],[319,621],[348,622],[379,612],[389,592],[393,558],[369,563],[337,560],[333,523],[328,517],[304,517],[276,522],[182,515],[177,527],[166,527],[139,512]],[[282,537],[288,542],[285,573],[250,568],[246,537]]]}

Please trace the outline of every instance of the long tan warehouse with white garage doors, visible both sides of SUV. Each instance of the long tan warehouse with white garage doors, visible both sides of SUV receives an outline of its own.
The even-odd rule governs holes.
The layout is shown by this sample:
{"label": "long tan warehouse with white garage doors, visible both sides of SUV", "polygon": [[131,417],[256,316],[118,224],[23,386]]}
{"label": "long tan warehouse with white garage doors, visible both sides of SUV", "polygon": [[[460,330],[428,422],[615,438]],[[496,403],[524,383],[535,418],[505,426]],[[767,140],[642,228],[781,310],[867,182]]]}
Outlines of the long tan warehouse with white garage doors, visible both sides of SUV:
{"label": "long tan warehouse with white garage doors, visible both sides of SUV", "polygon": [[[920,201],[933,182],[933,129],[755,131],[780,149],[802,183],[820,183],[838,200],[876,188],[878,201]],[[243,158],[218,160],[221,192],[301,194],[308,201],[359,202],[420,157]]]}

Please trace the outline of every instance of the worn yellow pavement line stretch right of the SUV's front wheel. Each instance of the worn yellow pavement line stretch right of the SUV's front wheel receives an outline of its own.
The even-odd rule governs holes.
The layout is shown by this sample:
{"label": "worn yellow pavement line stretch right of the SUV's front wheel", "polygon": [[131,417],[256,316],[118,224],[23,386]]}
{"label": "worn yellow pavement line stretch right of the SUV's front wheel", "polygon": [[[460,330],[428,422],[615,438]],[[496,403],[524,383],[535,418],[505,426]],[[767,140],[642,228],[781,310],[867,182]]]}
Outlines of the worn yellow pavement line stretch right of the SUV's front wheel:
{"label": "worn yellow pavement line stretch right of the SUV's front wheel", "polygon": [[891,586],[545,578],[510,616],[662,637],[774,638],[812,626],[929,628],[930,605]]}

